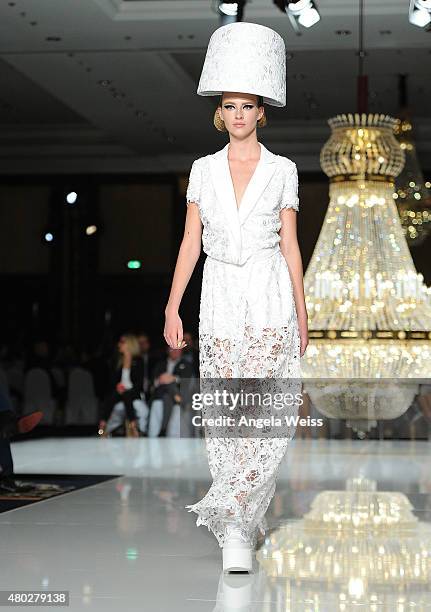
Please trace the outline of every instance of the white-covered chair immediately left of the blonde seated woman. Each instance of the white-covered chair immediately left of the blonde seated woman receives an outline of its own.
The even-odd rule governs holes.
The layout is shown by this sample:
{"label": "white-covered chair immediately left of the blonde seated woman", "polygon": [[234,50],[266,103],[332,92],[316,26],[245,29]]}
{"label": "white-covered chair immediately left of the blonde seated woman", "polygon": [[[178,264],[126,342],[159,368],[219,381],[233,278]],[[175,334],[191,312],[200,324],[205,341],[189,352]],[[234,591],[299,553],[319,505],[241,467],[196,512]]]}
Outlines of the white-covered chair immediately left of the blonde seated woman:
{"label": "white-covered chair immediately left of the blonde seated woman", "polygon": [[99,405],[91,373],[73,368],[69,373],[65,425],[96,425]]}

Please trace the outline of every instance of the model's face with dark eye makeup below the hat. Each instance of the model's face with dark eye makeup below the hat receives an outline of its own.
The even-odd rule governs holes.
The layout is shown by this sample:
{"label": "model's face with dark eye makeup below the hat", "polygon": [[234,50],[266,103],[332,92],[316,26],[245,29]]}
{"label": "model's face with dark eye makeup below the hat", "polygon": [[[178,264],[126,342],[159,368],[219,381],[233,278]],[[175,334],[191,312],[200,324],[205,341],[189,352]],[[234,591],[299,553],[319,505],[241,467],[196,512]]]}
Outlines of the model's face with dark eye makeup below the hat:
{"label": "model's face with dark eye makeup below the hat", "polygon": [[257,106],[257,96],[237,92],[224,92],[222,105],[217,109],[227,131],[238,138],[248,136],[256,129],[264,108]]}

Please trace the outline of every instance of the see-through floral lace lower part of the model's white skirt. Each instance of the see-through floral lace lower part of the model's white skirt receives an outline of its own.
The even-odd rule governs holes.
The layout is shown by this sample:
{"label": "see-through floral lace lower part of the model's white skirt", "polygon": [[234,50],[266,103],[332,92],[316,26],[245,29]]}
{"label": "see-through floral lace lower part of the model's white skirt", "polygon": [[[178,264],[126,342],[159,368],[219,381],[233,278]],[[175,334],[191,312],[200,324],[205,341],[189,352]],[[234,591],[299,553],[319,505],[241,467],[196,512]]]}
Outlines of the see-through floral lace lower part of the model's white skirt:
{"label": "see-through floral lace lower part of the model's white skirt", "polygon": [[[246,327],[240,351],[235,350],[234,341],[226,338],[202,334],[200,342],[201,376],[203,372],[220,379],[262,377],[264,383],[269,383],[263,385],[265,391],[273,396],[280,378],[299,379],[300,340],[294,322],[290,327],[274,329]],[[297,408],[292,406],[291,415],[295,414]],[[221,547],[231,527],[239,528],[252,546],[258,532],[265,532],[264,515],[274,495],[280,462],[294,433],[292,426],[281,438],[242,438],[235,433],[223,438],[206,436],[213,483],[201,501],[187,508],[198,514],[196,524],[206,525]]]}

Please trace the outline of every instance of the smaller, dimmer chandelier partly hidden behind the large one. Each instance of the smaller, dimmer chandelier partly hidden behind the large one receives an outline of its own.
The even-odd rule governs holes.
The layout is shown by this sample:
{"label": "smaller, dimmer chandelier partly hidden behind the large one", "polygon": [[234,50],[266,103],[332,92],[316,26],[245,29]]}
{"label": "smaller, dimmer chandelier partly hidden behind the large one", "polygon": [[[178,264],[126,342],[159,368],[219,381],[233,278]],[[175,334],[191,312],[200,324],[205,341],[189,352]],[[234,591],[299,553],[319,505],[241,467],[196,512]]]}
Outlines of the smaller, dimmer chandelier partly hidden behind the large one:
{"label": "smaller, dimmer chandelier partly hidden behind the large one", "polygon": [[416,155],[411,122],[403,119],[395,133],[406,163],[396,179],[394,199],[407,242],[413,246],[421,244],[431,230],[431,194]]}

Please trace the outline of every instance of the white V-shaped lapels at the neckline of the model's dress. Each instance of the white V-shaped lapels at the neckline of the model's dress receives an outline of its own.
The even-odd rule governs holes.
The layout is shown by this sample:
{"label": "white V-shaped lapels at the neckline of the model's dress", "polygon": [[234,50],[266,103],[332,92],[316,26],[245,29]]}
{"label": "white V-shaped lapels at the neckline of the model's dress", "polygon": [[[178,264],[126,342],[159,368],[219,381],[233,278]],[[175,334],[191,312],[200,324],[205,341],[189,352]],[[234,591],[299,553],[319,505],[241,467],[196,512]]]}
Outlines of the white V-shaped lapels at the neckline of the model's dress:
{"label": "white V-shaped lapels at the neckline of the model's dress", "polygon": [[277,166],[275,163],[277,156],[262,143],[259,144],[261,147],[259,163],[246,187],[239,210],[236,205],[235,190],[227,158],[229,144],[210,156],[211,178],[217,199],[224,210],[226,222],[237,244],[241,242],[241,225],[253,210]]}

